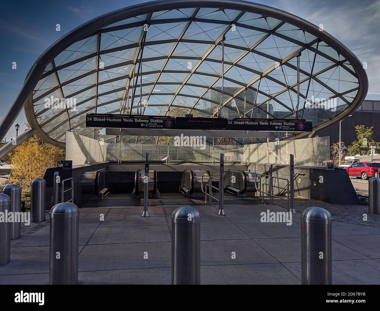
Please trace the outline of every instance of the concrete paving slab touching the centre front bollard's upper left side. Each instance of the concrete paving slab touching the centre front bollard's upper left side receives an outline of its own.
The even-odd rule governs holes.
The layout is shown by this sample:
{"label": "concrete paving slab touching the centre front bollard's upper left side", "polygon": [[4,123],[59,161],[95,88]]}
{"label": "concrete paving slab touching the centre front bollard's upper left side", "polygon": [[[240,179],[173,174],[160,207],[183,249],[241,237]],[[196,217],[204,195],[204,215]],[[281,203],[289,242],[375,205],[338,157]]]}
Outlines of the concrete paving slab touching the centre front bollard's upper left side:
{"label": "concrete paving slab touching the centre front bollard's upper left side", "polygon": [[171,241],[168,226],[99,227],[88,244]]}

